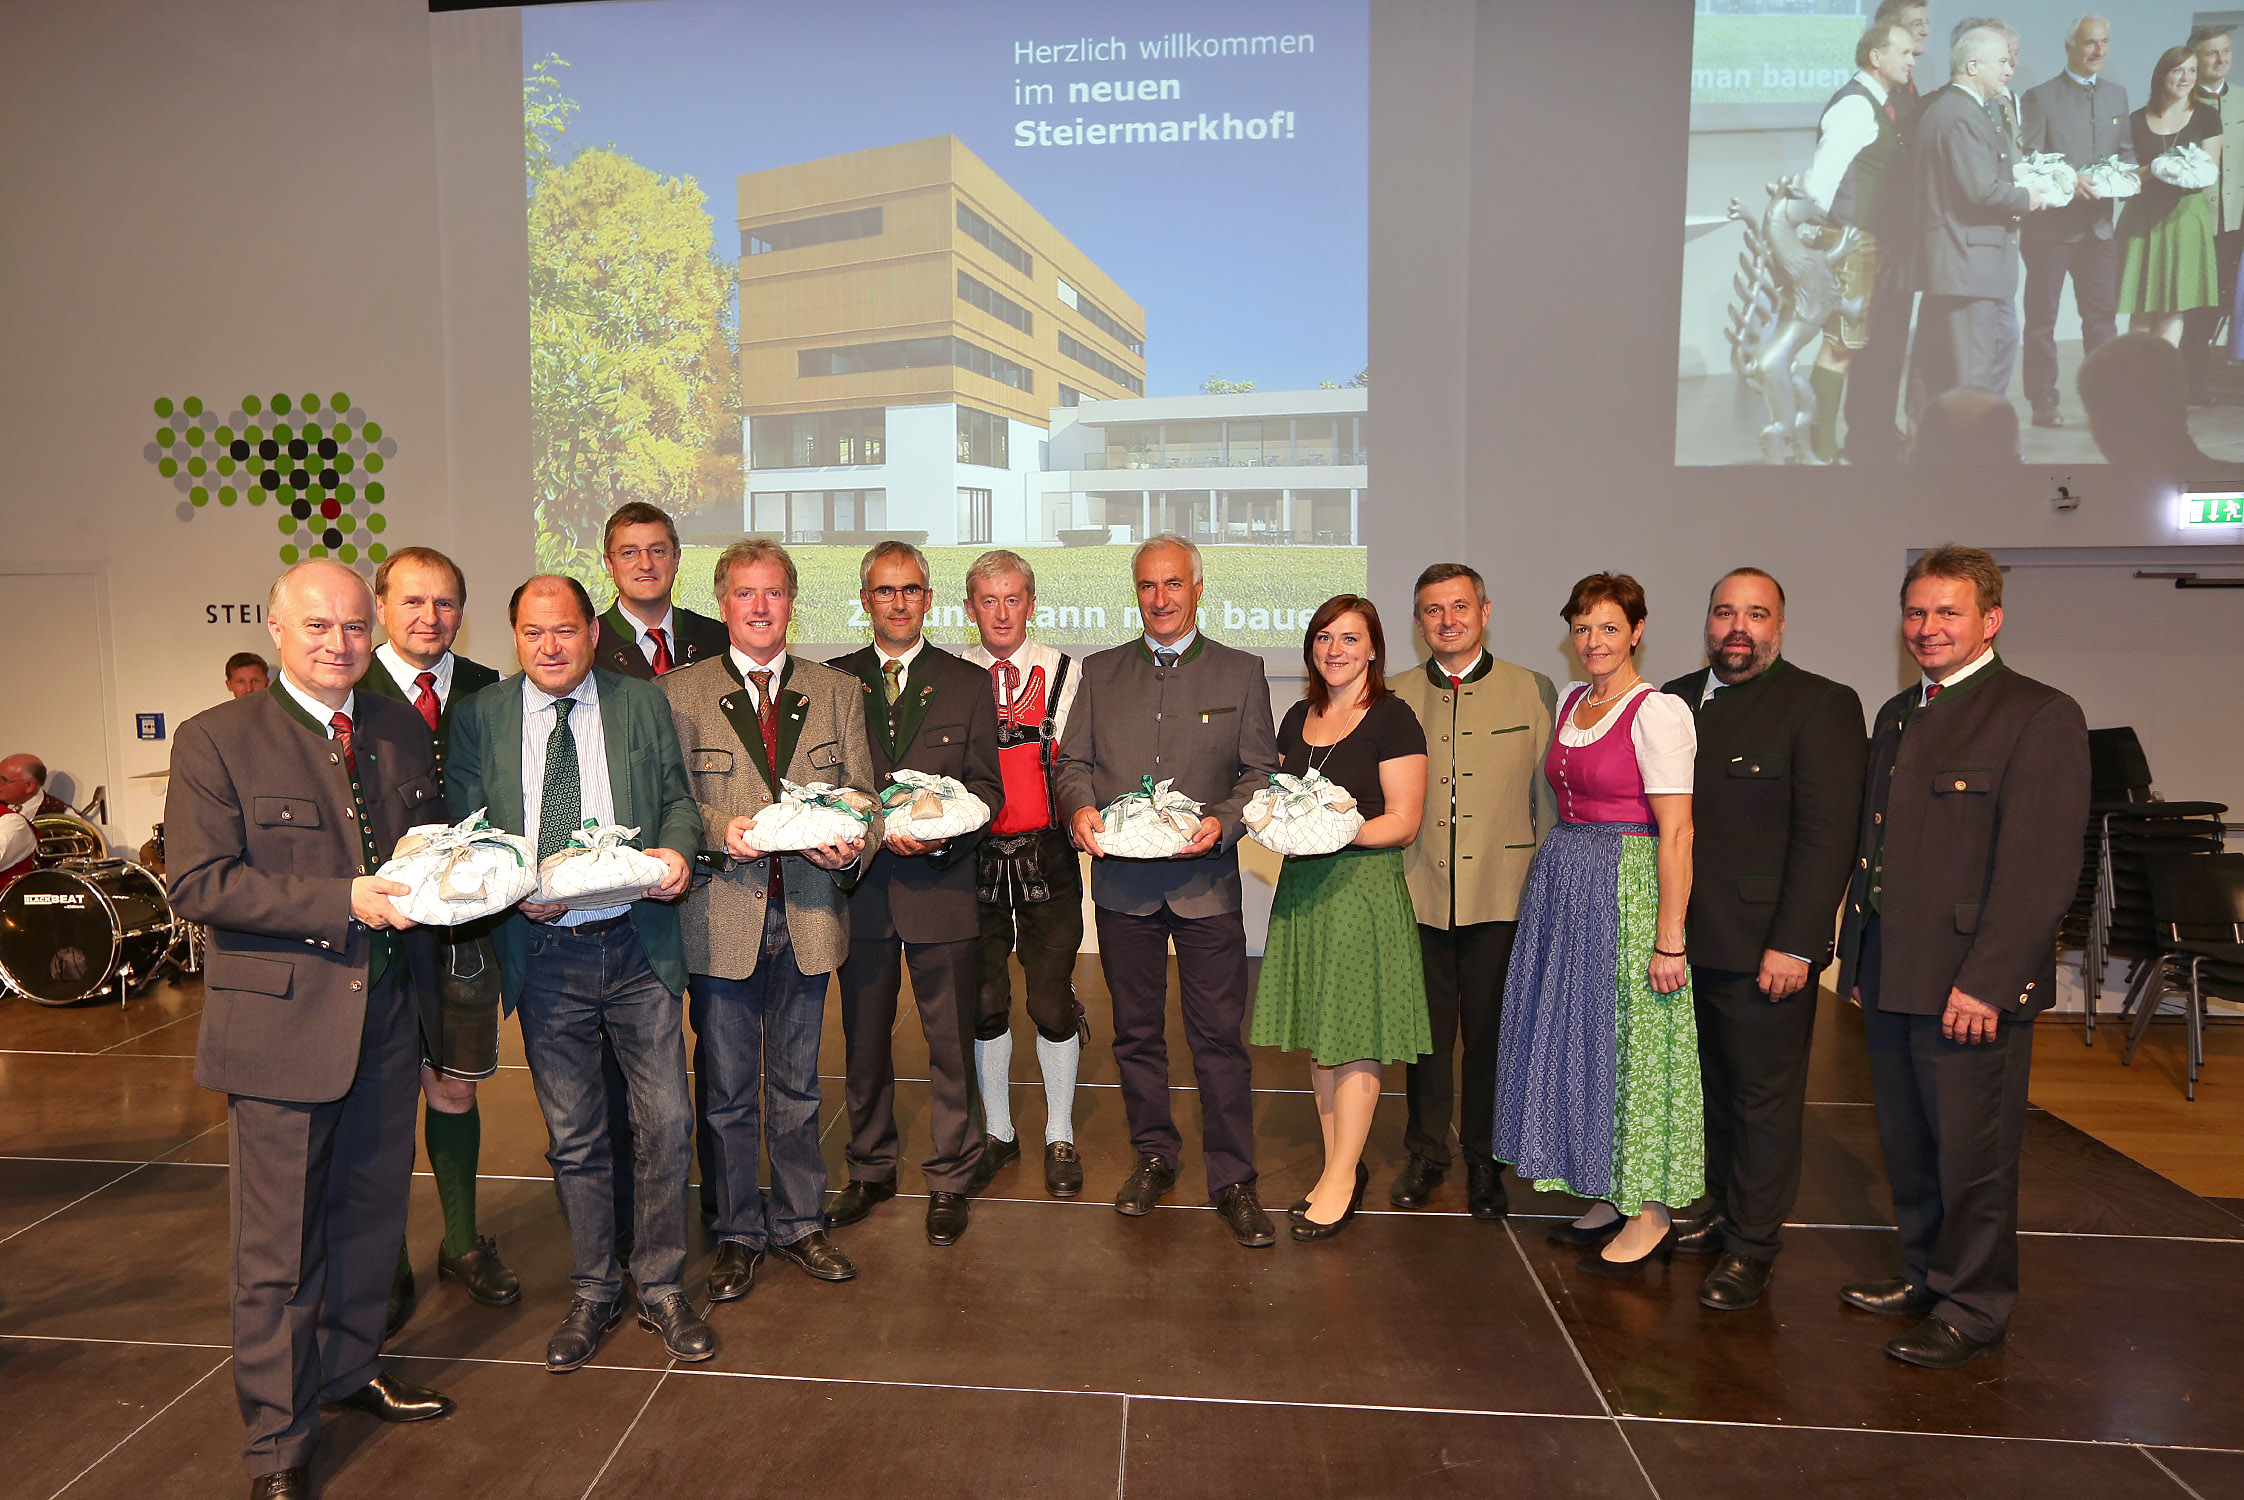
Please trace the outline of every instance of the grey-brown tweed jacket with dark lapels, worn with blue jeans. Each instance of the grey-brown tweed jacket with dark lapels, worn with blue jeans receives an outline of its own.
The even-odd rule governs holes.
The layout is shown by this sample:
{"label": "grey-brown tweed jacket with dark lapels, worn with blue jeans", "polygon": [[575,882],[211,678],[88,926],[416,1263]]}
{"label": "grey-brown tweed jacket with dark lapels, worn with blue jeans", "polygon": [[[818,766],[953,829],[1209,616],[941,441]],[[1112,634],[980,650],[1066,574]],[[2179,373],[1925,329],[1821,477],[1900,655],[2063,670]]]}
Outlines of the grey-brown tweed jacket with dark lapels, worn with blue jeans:
{"label": "grey-brown tweed jacket with dark lapels, worn with blue jeans", "polygon": [[[799,853],[734,860],[725,853],[725,829],[734,817],[754,817],[772,806],[776,777],[797,786],[826,781],[873,790],[864,687],[846,671],[790,656],[779,689],[774,777],[765,766],[763,734],[749,703],[754,694],[732,674],[729,656],[680,667],[655,678],[655,685],[671,701],[671,725],[702,817],[702,851],[716,867],[711,880],[696,887],[678,914],[687,970],[718,979],[747,979],[756,972],[774,858],[781,862],[794,968],[806,975],[842,968],[848,957],[848,891],[857,885],[857,869],[819,869]],[[866,847],[875,842],[877,835],[868,833]]]}

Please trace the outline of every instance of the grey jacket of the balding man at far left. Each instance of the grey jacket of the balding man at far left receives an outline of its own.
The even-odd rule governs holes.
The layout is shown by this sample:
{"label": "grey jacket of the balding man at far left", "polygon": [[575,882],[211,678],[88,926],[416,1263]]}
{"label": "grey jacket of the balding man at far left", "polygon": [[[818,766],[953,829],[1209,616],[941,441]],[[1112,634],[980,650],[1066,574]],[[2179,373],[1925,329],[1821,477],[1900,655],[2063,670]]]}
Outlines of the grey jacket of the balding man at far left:
{"label": "grey jacket of the balding man at far left", "polygon": [[[180,725],[164,799],[166,874],[173,909],[211,930],[195,1082],[325,1103],[343,1098],[359,1069],[373,939],[350,918],[350,882],[373,871],[343,757],[280,707],[280,692],[274,683]],[[406,829],[444,817],[429,725],[364,689],[352,712],[366,820],[388,856]],[[426,1013],[435,1001],[426,927],[399,934],[399,963]]]}

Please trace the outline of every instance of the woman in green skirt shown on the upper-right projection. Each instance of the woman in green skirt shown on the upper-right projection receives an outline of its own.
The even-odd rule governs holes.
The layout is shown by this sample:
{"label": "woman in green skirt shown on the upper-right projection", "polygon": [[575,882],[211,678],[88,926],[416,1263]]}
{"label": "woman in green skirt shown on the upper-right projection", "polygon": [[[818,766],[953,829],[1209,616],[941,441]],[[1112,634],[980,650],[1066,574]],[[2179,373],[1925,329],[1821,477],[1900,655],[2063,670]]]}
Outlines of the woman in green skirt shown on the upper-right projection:
{"label": "woman in green skirt shown on the upper-right projection", "polygon": [[2143,191],[2118,213],[2118,310],[2130,332],[2154,332],[2181,344],[2181,314],[2213,308],[2222,299],[2213,260],[2213,189],[2179,189],[2154,171],[2159,157],[2197,144],[2215,164],[2222,159],[2222,117],[2199,108],[2197,54],[2168,47],[2150,74],[2150,103],[2127,117]]}

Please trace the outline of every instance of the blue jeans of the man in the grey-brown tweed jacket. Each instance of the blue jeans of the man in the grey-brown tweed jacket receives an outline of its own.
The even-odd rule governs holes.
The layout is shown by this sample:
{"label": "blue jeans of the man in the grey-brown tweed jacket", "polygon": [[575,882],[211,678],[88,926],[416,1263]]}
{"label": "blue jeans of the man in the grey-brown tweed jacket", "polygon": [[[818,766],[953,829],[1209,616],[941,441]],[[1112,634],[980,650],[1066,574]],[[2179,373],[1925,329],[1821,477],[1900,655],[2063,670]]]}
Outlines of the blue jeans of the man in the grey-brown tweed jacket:
{"label": "blue jeans of the man in the grey-brown tweed jacket", "polygon": [[[693,1042],[705,1089],[702,1127],[716,1181],[716,1233],[754,1251],[819,1228],[826,1156],[819,1152],[819,1033],[828,975],[794,968],[785,903],[770,903],[763,950],[747,979],[693,975]],[[772,1152],[772,1201],[756,1190],[756,1143]]]}

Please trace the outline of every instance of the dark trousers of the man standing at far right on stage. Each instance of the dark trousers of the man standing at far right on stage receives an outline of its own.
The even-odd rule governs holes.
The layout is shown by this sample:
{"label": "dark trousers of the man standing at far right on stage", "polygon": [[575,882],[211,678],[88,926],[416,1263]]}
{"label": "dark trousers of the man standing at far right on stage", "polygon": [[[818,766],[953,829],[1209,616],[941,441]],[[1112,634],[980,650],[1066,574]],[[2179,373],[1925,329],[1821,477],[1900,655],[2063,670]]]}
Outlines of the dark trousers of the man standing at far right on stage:
{"label": "dark trousers of the man standing at far right on stage", "polygon": [[2017,1152],[2033,1022],[2004,1015],[1993,1042],[1950,1042],[1937,1015],[1878,1010],[1878,957],[1871,923],[1863,936],[1863,1031],[1901,1275],[1939,1298],[1943,1323],[1997,1338],[2017,1305]]}

